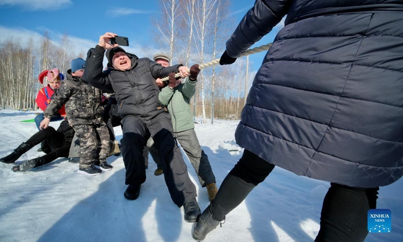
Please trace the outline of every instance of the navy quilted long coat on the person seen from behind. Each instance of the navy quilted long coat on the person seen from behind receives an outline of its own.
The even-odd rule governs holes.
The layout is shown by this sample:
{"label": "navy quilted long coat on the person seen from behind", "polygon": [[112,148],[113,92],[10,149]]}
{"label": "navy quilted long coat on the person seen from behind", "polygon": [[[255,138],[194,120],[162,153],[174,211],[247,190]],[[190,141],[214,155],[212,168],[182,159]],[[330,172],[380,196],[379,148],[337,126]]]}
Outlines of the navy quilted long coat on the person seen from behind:
{"label": "navy quilted long coat on the person seen from behind", "polygon": [[261,0],[227,41],[238,57],[287,15],[237,143],[298,175],[352,187],[403,174],[403,1]]}

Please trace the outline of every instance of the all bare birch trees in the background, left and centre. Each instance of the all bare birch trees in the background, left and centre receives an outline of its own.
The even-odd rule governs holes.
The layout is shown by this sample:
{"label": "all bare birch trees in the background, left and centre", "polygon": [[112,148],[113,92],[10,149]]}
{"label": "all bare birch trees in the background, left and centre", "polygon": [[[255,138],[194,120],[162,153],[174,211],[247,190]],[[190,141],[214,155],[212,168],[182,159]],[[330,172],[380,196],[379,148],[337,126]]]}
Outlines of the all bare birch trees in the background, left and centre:
{"label": "all bare birch trees in the background, left and centre", "polygon": [[[161,0],[160,13],[153,19],[154,41],[171,57],[171,64],[207,63],[220,58],[237,23],[229,21],[229,0]],[[70,62],[84,53],[74,53],[65,34],[60,43],[52,42],[47,33],[35,46],[27,47],[11,38],[0,43],[0,107],[37,110],[38,82],[43,70],[57,67],[61,73]],[[155,53],[147,53],[153,56]],[[246,57],[230,66],[212,66],[201,70],[191,109],[204,122],[211,118],[238,119],[253,75],[248,73]]]}

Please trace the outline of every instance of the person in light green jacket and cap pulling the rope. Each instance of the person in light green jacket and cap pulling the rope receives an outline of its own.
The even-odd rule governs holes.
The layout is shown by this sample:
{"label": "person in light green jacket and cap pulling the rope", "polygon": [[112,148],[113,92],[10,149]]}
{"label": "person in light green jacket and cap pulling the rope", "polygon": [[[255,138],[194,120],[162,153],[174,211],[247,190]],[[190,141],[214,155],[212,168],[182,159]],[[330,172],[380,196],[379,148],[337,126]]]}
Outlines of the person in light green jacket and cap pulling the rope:
{"label": "person in light green jacket and cap pulling the rope", "polygon": [[[169,58],[165,54],[155,55],[154,60],[162,66],[169,64]],[[217,194],[216,177],[211,168],[209,158],[201,149],[194,132],[193,115],[189,105],[190,99],[196,90],[196,78],[199,72],[200,69],[196,64],[190,68],[190,76],[185,79],[184,83],[181,83],[181,79],[176,80],[171,77],[168,86],[162,88],[159,93],[158,100],[168,108],[171,114],[174,137],[193,165],[201,187],[207,188],[209,200],[211,201]],[[160,87],[164,85],[159,80],[157,80],[157,84]]]}

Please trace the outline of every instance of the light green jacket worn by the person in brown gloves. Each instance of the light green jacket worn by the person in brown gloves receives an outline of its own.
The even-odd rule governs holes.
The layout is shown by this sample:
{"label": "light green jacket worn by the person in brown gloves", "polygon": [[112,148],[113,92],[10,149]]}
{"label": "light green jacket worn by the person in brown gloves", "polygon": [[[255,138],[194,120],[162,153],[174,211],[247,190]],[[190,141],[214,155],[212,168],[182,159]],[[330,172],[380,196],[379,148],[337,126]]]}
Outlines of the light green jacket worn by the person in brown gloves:
{"label": "light green jacket worn by the person in brown gloves", "polygon": [[162,105],[168,107],[171,114],[174,133],[194,129],[193,114],[189,103],[196,90],[196,83],[197,80],[190,81],[187,77],[184,83],[174,89],[164,87],[158,95],[158,100]]}

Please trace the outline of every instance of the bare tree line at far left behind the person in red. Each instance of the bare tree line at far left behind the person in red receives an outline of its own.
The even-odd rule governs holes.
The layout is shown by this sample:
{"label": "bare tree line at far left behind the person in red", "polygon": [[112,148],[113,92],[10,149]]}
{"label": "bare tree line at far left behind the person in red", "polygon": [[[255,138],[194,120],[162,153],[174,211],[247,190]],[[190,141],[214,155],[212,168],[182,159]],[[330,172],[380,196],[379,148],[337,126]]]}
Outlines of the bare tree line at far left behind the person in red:
{"label": "bare tree line at far left behind the person in red", "polygon": [[[0,42],[0,107],[18,110],[37,110],[35,99],[43,85],[38,82],[38,75],[44,70],[57,67],[60,73],[70,69],[70,62],[76,58],[72,53],[68,35],[63,35],[60,44],[52,43],[47,33],[41,41],[22,40],[11,37]],[[79,56],[83,56],[80,53]]]}

